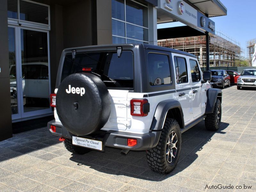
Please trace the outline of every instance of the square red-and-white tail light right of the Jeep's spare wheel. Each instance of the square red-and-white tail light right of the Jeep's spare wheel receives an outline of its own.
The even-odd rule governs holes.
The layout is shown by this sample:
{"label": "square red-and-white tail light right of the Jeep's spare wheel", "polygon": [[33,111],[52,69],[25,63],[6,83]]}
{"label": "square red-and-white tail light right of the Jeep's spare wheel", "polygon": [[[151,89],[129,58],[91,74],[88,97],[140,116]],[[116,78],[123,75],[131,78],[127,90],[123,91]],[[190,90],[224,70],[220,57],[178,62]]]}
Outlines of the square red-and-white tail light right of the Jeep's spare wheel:
{"label": "square red-and-white tail light right of the Jeep's spare wheel", "polygon": [[132,116],[147,116],[149,112],[149,103],[147,99],[132,99],[131,100],[131,115]]}

